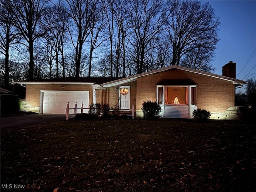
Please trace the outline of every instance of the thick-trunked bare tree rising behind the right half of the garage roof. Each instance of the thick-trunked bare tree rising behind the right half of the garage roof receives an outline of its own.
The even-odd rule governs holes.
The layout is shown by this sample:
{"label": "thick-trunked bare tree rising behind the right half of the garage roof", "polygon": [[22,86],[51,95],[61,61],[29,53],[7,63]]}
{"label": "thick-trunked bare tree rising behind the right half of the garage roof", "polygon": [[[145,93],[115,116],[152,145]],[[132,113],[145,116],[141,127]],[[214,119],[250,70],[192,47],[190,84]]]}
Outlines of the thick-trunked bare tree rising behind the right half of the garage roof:
{"label": "thick-trunked bare tree rising behind the right half of the garage roof", "polygon": [[[78,77],[80,73],[80,63],[83,53],[83,45],[90,35],[90,26],[96,14],[97,1],[90,0],[72,0],[66,1],[68,8],[66,12],[73,20],[74,27],[68,26],[72,45],[76,51],[75,56],[75,76]],[[72,31],[72,29],[74,31]]]}

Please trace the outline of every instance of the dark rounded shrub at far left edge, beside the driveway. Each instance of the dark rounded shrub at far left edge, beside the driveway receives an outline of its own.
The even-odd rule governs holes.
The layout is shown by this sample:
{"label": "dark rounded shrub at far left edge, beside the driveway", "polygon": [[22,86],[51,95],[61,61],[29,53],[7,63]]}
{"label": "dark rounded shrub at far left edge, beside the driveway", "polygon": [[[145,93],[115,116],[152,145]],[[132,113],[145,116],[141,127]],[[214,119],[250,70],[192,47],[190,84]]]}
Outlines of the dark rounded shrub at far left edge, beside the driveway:
{"label": "dark rounded shrub at far left edge, beside the driveway", "polygon": [[21,107],[21,100],[17,96],[2,95],[1,96],[1,113],[13,114],[17,113]]}

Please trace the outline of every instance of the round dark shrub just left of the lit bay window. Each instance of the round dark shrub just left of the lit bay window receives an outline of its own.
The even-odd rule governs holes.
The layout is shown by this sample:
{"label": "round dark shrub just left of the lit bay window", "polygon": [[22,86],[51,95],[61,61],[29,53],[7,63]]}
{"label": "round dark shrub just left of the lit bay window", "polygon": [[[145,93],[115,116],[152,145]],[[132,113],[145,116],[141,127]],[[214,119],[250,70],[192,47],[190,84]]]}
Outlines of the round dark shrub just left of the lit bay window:
{"label": "round dark shrub just left of the lit bay window", "polygon": [[153,102],[150,100],[144,101],[142,103],[142,112],[143,118],[146,119],[156,119],[160,117],[161,107],[157,104],[157,102]]}

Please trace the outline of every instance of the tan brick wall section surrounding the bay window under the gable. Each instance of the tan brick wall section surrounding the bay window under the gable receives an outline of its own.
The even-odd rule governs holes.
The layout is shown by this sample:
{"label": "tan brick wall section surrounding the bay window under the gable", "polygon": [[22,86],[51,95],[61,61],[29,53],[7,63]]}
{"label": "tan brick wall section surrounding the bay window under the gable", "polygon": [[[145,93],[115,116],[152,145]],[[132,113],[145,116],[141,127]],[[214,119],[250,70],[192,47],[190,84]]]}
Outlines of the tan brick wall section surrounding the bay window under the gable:
{"label": "tan brick wall section surrounding the bay window under the gable", "polygon": [[234,106],[235,87],[232,82],[175,69],[137,78],[138,116],[142,115],[140,108],[143,101],[148,99],[156,101],[156,84],[160,80],[187,78],[198,84],[197,108],[205,108],[211,112],[225,112],[229,107]]}

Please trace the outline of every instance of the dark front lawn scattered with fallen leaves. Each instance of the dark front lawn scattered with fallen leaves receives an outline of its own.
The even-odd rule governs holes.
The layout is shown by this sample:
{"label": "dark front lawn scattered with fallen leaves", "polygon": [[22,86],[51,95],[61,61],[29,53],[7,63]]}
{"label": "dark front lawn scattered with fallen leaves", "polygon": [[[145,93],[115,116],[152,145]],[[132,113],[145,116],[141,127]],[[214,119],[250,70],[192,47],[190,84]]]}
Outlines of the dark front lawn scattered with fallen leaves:
{"label": "dark front lawn scattered with fallen leaves", "polygon": [[1,191],[253,192],[256,127],[71,120],[1,131]]}

